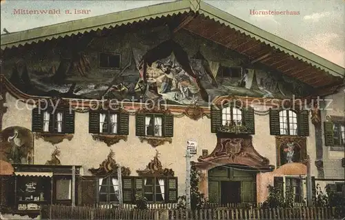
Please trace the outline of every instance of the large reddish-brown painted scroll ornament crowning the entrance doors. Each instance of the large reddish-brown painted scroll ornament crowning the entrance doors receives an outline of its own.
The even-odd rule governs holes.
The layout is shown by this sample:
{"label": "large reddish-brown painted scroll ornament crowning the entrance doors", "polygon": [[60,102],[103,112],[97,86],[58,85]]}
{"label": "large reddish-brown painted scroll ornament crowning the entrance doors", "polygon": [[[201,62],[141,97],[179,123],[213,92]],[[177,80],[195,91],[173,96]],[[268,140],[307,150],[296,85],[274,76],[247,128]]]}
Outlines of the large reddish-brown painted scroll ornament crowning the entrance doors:
{"label": "large reddish-brown painted scroll ornament crowning the entrance doors", "polygon": [[253,147],[252,137],[247,134],[233,134],[218,137],[217,146],[212,153],[200,156],[194,165],[199,170],[210,170],[220,164],[240,164],[260,171],[270,171],[274,166],[262,157]]}

